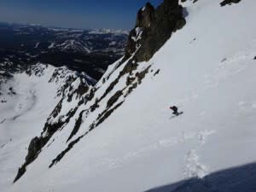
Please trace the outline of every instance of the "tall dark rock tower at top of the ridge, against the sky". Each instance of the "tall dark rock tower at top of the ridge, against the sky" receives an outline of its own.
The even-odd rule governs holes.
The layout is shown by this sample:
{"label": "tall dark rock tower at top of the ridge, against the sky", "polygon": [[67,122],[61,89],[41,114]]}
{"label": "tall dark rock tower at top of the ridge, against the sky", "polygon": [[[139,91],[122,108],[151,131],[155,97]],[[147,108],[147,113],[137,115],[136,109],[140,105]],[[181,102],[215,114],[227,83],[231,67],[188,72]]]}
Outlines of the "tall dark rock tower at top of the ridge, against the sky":
{"label": "tall dark rock tower at top of the ridge, against the sky", "polygon": [[148,61],[171,37],[172,32],[181,29],[185,23],[183,7],[178,0],[165,0],[157,9],[147,3],[137,13],[136,26],[130,32],[124,60],[138,49],[137,61]]}

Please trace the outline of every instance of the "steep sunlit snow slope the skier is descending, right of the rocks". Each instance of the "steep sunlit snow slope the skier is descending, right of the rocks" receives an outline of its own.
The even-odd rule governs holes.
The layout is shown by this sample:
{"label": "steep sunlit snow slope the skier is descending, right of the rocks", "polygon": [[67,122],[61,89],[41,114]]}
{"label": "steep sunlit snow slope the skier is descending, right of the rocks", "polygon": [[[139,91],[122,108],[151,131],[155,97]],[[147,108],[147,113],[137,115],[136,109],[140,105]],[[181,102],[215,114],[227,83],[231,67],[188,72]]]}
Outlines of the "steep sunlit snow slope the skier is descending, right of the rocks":
{"label": "steep sunlit snow slope the skier is descending, right of the rocks", "polygon": [[[26,154],[20,151],[19,142],[1,148],[3,191],[143,192],[255,162],[256,26],[252,19],[256,17],[256,2],[246,0],[223,8],[219,3],[212,0],[184,3],[189,13],[186,26],[175,32],[150,61],[139,64],[137,71],[151,66],[142,84],[130,96],[120,97],[119,102],[125,100],[121,107],[85,135],[55,166],[49,169],[51,160],[66,148],[77,114],[65,129],[58,131],[51,139],[53,143],[44,148],[15,184],[11,184],[14,176],[9,174],[13,170],[4,170],[17,168],[17,160],[7,157],[4,161],[3,155],[12,148],[20,153],[19,157]],[[110,74],[105,84],[101,80],[96,85],[96,97],[102,96],[125,63],[116,68],[117,65],[118,62],[108,68],[102,78]],[[154,76],[158,69],[160,73]],[[119,79],[111,93],[124,87],[126,77]],[[108,99],[102,100],[100,108],[84,118],[75,138],[88,131]],[[31,105],[32,102],[27,108]],[[177,105],[184,113],[172,118],[171,105]],[[79,108],[79,112],[82,110],[83,107]],[[20,134],[27,137],[26,132]],[[246,167],[246,171],[248,175],[237,177],[238,180],[232,177],[235,171],[210,177],[206,179],[209,183],[204,185],[205,190],[195,190],[193,185],[175,189],[182,184],[177,183],[155,191],[232,189],[233,192],[238,191],[234,186],[240,183],[246,184],[239,191],[255,191],[252,179],[255,166]],[[240,172],[236,170],[236,174],[239,176]],[[224,177],[227,177],[224,183],[218,183]]]}

